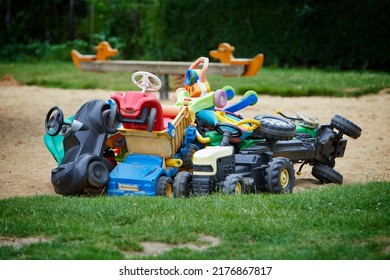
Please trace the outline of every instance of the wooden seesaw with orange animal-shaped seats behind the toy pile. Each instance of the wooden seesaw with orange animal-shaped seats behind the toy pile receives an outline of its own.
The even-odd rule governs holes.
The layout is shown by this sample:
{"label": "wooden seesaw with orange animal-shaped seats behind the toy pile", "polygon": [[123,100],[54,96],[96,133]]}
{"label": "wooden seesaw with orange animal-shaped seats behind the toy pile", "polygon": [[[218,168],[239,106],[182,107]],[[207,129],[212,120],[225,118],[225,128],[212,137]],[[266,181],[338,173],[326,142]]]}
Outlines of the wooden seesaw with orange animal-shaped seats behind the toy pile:
{"label": "wooden seesaw with orange animal-shaped seats behind the toy pile", "polygon": [[[146,71],[146,72],[160,74],[162,75],[162,78],[164,80],[164,84],[161,89],[161,99],[168,99],[169,75],[182,76],[183,73],[185,73],[186,70],[191,65],[190,62],[180,62],[180,61],[141,61],[141,60],[108,61],[107,58],[112,56],[113,54],[111,54],[111,52],[109,51],[105,51],[104,48],[102,49],[98,48],[98,53],[99,51],[106,55],[101,55],[101,56],[82,55],[78,51],[72,50],[71,55],[72,55],[73,63],[79,70],[82,71],[96,71],[96,72]],[[263,54],[258,54],[252,60],[235,59],[232,56],[233,51],[234,48],[230,47],[229,59],[225,59],[226,55],[224,56],[222,55],[221,58],[223,59],[223,61],[221,60],[221,63],[209,63],[208,73],[213,75],[222,75],[222,76],[253,76],[256,75],[256,73],[261,69],[263,63]],[[218,51],[218,50],[213,51],[213,55],[214,55],[213,57],[218,59],[219,56],[218,54],[220,53],[222,53],[222,51]]]}

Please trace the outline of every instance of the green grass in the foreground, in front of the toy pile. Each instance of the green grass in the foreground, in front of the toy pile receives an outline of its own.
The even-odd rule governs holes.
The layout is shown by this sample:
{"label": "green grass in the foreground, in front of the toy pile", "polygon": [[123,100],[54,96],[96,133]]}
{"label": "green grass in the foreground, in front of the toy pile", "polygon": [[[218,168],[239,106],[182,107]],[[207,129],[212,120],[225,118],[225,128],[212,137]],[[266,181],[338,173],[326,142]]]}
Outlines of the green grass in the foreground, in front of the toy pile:
{"label": "green grass in the foreground, in front of the toy pile", "polygon": [[[146,259],[389,259],[390,183],[329,186],[291,195],[34,196],[0,200],[0,259],[123,259],[143,241],[221,243]],[[141,257],[133,257],[141,258]]]}

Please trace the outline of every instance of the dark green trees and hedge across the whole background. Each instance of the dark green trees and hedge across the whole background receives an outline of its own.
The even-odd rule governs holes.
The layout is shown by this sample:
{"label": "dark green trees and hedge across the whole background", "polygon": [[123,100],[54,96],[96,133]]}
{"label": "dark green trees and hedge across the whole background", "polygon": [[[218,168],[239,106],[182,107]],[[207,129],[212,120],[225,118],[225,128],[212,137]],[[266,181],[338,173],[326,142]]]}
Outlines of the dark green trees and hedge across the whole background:
{"label": "dark green trees and hedge across the whole background", "polygon": [[193,61],[221,42],[265,66],[390,70],[387,0],[0,0],[0,60],[70,61],[106,40],[114,59]]}

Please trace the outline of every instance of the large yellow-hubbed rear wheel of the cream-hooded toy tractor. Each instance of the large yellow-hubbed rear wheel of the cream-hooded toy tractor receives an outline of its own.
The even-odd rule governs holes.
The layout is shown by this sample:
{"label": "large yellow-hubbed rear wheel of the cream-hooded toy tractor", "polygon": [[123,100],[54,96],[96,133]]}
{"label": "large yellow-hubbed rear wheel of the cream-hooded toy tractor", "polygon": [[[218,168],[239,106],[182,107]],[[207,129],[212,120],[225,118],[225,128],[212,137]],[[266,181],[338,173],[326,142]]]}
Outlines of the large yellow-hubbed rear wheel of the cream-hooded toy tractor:
{"label": "large yellow-hubbed rear wheel of the cream-hooded toy tractor", "polygon": [[295,187],[295,171],[292,162],[277,157],[265,169],[265,188],[271,193],[292,193]]}

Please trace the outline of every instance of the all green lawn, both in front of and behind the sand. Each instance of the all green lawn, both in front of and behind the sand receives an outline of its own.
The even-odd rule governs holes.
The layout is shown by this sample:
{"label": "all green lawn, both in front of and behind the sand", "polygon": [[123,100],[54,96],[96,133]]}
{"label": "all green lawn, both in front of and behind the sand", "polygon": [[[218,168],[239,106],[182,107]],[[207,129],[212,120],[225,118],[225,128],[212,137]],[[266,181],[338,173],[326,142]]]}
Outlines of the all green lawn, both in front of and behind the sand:
{"label": "all green lawn, both in front of and behind the sand", "polygon": [[[5,74],[27,85],[136,90],[131,73],[79,72],[63,62],[0,63]],[[359,71],[264,68],[254,77],[208,79],[213,89],[281,96],[390,88],[388,73]],[[389,182],[291,195],[16,197],[0,200],[0,259],[389,259],[389,208]],[[141,255],[143,242],[171,247]]]}

